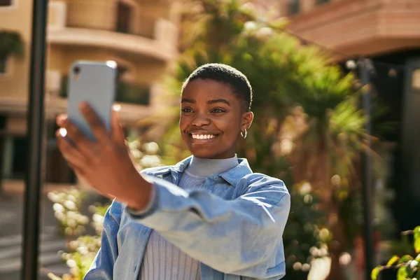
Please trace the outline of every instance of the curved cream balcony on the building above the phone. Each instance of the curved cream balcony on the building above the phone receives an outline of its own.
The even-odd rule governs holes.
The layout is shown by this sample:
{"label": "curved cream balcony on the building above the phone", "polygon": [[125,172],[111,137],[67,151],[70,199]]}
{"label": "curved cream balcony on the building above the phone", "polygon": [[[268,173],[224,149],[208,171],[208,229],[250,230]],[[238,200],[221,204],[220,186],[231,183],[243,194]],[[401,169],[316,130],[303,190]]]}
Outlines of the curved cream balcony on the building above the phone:
{"label": "curved cream balcony on the building above the phone", "polygon": [[136,6],[116,6],[115,1],[103,0],[52,0],[48,8],[49,43],[104,47],[164,62],[177,54],[176,24],[141,13]]}

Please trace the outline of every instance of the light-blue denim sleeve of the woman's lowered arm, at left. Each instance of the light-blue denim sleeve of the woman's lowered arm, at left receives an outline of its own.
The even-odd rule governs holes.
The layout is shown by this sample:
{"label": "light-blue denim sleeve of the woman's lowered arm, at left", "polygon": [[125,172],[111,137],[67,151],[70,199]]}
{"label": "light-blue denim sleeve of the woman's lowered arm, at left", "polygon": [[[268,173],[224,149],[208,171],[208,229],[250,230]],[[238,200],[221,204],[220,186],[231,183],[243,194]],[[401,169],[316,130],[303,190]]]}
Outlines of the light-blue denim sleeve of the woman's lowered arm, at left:
{"label": "light-blue denim sleeve of the woman's lowered arm, at left", "polygon": [[112,202],[104,217],[101,248],[99,249],[84,280],[112,280],[113,266],[118,257],[117,234],[120,228],[122,204]]}

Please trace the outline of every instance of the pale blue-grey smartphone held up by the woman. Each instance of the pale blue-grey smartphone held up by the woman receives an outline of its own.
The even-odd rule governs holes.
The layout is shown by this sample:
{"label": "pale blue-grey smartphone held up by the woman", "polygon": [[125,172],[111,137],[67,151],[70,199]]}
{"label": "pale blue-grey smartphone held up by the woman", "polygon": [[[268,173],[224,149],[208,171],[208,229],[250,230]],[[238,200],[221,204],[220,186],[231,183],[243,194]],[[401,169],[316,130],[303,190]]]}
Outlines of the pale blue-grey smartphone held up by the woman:
{"label": "pale blue-grey smartphone held up by the woman", "polygon": [[87,102],[111,132],[111,108],[116,95],[117,63],[77,61],[71,65],[68,83],[69,120],[92,141],[96,141],[90,126],[78,109]]}

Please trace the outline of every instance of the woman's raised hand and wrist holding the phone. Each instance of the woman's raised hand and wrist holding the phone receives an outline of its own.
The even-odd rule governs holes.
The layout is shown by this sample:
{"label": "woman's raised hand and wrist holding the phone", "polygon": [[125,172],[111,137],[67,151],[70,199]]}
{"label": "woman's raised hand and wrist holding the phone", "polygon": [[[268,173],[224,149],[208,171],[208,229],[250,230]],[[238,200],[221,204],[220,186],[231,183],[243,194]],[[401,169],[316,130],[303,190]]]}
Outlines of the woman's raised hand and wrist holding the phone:
{"label": "woman's raised hand and wrist holding the phone", "polygon": [[151,197],[152,184],[137,172],[125,145],[118,113],[111,113],[111,134],[87,104],[79,106],[90,125],[96,142],[91,141],[66,116],[57,117],[59,150],[70,167],[102,195],[127,203],[133,209],[146,207]]}

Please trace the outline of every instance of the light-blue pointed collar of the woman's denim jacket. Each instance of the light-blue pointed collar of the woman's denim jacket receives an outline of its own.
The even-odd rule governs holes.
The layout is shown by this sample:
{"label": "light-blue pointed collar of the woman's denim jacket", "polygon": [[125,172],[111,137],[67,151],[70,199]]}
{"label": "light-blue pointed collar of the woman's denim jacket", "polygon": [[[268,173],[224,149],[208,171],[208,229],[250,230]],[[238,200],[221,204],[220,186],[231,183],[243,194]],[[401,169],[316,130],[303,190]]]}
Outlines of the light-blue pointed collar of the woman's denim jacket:
{"label": "light-blue pointed collar of the woman's denim jacket", "polygon": [[[155,172],[154,175],[165,176],[170,173],[173,175],[182,174],[190,164],[192,158],[193,156],[190,156],[185,160],[181,160],[181,162],[178,162],[176,165],[164,167]],[[221,176],[221,178],[230,183],[232,186],[237,186],[239,180],[241,180],[245,175],[252,173],[252,169],[249,167],[248,160],[246,160],[246,158],[238,158],[238,162],[239,165],[236,167],[222,174],[218,174],[218,176]]]}

